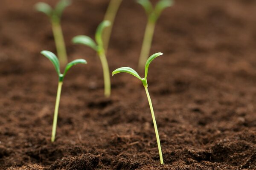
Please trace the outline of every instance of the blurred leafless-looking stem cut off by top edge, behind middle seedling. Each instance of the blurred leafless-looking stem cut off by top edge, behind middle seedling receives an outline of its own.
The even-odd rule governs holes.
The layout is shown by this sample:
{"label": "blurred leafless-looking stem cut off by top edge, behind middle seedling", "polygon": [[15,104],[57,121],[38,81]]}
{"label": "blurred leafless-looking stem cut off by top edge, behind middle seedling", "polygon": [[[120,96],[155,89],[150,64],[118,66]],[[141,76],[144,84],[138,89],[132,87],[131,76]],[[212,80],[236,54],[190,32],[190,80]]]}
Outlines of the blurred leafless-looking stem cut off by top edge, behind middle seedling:
{"label": "blurred leafless-looking stem cut off by top edge, behind middle seedling", "polygon": [[107,53],[107,50],[108,50],[108,44],[109,44],[109,40],[110,40],[112,28],[113,28],[113,23],[114,23],[114,20],[116,18],[116,13],[117,13],[118,8],[121,3],[122,3],[122,0],[111,0],[108,5],[108,9],[106,11],[105,17],[104,17],[104,20],[109,20],[111,22],[111,26],[105,28],[103,31],[103,34],[102,34],[105,53]]}

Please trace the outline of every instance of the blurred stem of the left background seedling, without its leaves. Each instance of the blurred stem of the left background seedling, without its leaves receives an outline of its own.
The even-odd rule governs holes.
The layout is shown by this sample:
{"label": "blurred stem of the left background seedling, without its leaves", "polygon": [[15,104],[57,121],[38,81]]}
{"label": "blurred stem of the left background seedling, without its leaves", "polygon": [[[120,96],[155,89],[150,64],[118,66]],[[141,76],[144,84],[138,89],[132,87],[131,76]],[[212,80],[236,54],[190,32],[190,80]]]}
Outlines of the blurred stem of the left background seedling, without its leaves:
{"label": "blurred stem of the left background seedling, without its leaves", "polygon": [[58,22],[52,22],[52,32],[53,37],[55,40],[56,50],[58,54],[58,58],[60,60],[60,64],[66,65],[67,64],[67,52],[65,47],[65,41],[61,29],[61,24]]}

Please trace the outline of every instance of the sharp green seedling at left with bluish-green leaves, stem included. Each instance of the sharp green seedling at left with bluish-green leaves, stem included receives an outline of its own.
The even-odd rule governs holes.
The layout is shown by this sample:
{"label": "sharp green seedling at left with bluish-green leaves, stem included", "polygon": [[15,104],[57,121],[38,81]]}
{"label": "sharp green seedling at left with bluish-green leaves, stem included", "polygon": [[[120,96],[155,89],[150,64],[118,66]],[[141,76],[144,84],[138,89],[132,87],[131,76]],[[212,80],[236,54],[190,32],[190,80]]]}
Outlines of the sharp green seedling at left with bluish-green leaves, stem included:
{"label": "sharp green seedling at left with bluish-green leaves, stem included", "polygon": [[63,79],[67,74],[67,71],[76,64],[87,64],[86,60],[84,59],[75,59],[72,62],[68,63],[66,65],[66,68],[64,70],[64,73],[61,74],[60,71],[60,63],[58,58],[56,57],[55,54],[53,54],[50,51],[41,51],[41,54],[43,54],[45,57],[47,57],[52,64],[55,67],[55,70],[58,74],[58,90],[57,90],[57,97],[56,97],[56,103],[55,103],[55,110],[54,110],[54,117],[53,117],[53,125],[52,125],[52,138],[51,141],[54,142],[55,141],[55,134],[56,134],[56,127],[57,127],[57,119],[58,119],[58,108],[59,108],[59,104],[60,104],[60,98],[61,98],[61,87],[63,84]]}

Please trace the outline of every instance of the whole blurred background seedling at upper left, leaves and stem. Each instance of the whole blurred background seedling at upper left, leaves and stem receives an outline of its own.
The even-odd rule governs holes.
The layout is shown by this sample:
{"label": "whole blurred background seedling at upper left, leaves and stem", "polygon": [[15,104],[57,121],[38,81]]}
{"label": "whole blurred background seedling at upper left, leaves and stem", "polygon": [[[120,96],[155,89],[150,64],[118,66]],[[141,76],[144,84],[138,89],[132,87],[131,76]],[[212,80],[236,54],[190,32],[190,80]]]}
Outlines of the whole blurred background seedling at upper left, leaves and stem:
{"label": "whole blurred background seedling at upper left, leaves and stem", "polygon": [[35,8],[46,14],[52,23],[52,32],[55,40],[56,51],[60,60],[61,66],[67,64],[67,52],[65,41],[61,29],[61,15],[67,6],[70,6],[70,0],[60,0],[53,9],[47,3],[39,2],[35,4]]}

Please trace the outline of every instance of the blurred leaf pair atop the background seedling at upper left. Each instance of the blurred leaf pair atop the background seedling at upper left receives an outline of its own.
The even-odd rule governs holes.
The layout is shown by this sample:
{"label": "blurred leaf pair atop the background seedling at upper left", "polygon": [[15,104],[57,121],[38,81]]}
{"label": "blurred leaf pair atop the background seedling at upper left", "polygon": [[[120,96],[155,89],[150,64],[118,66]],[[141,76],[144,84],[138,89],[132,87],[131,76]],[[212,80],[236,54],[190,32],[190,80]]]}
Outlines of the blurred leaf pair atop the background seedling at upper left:
{"label": "blurred leaf pair atop the background seedling at upper left", "polygon": [[64,9],[67,6],[70,6],[71,1],[70,0],[60,0],[57,5],[55,6],[55,8],[53,9],[51,6],[49,6],[47,3],[43,3],[43,2],[39,2],[37,4],[35,4],[35,8],[40,11],[43,12],[44,14],[46,14],[48,17],[52,18],[52,17],[58,17],[60,18]]}

